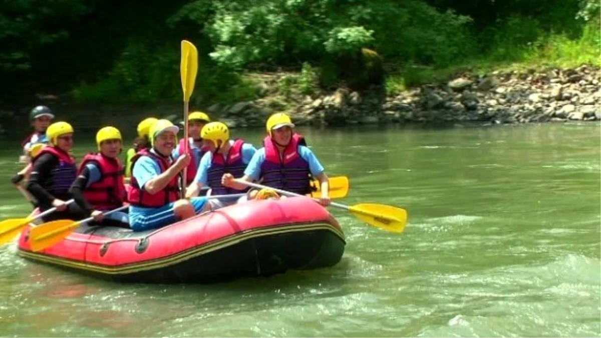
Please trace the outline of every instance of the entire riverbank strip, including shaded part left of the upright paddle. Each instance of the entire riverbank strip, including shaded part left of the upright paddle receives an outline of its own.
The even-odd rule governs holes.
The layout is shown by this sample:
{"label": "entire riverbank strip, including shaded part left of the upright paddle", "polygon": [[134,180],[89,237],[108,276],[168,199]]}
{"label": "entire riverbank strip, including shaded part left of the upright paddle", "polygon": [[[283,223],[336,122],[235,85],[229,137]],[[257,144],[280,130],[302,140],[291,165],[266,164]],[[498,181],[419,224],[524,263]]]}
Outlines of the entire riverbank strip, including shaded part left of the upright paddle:
{"label": "entire riverbank strip, including shaded part left of the upright paddle", "polygon": [[[191,105],[231,128],[262,127],[273,112],[287,112],[299,125],[427,123],[538,123],[601,120],[601,67],[549,67],[497,70],[481,75],[462,73],[445,81],[386,94],[383,88],[359,93],[345,88],[302,94],[291,86],[282,90],[290,73],[255,76],[257,98],[228,105]],[[81,131],[117,124],[135,129],[148,116],[178,118],[181,103],[153,106],[72,105],[61,100],[47,103],[56,114],[67,116]],[[13,113],[14,114],[14,113]],[[13,115],[11,114],[11,115]],[[126,127],[127,126],[127,127]]]}

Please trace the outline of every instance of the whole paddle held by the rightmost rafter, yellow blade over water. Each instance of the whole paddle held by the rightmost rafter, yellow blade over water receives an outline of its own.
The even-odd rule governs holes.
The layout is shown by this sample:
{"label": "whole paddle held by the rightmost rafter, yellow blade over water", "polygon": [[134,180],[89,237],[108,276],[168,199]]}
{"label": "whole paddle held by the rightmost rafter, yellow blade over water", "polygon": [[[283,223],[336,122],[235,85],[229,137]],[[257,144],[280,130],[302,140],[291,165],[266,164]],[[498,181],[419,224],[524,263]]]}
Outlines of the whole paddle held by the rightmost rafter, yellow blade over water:
{"label": "whole paddle held by the rightmost rafter, yellow blade over water", "polygon": [[[278,192],[278,194],[281,195],[302,196],[294,192],[270,188],[269,186],[246,182],[241,179],[235,179],[234,181],[243,185],[252,186],[253,188],[273,189],[273,191]],[[374,203],[361,203],[355,204],[354,206],[346,206],[335,202],[330,203],[330,205],[347,210],[356,218],[359,218],[359,220],[364,221],[370,226],[379,227],[380,229],[389,232],[403,232],[405,224],[407,223],[407,211],[394,206]]]}

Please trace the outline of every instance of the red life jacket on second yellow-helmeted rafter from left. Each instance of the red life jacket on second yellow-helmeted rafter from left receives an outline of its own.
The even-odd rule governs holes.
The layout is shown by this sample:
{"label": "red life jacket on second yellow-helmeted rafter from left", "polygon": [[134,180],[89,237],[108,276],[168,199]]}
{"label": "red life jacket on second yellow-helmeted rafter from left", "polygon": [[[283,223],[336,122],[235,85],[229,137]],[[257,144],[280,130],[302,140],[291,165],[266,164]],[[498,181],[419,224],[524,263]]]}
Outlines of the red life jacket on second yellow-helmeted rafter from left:
{"label": "red life jacket on second yellow-helmeted rafter from left", "polygon": [[88,153],[79,165],[78,173],[92,162],[100,171],[100,180],[85,188],[84,197],[96,210],[112,210],[123,206],[125,186],[123,166],[118,158],[108,158],[100,153]]}

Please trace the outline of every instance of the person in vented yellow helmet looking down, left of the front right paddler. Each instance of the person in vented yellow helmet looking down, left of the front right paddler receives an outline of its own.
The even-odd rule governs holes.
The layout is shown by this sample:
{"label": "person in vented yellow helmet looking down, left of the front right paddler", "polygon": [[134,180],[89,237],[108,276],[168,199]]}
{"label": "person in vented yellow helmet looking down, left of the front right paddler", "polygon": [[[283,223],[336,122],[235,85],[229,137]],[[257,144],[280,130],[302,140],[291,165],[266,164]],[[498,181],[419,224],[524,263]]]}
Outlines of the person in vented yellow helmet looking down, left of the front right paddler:
{"label": "person in vented yellow helmet looking down, left of the front right paddler", "polygon": [[[194,182],[186,189],[186,198],[198,195],[203,186],[211,188],[211,195],[228,195],[238,194],[248,191],[248,187],[242,189],[226,188],[221,184],[221,177],[225,173],[233,174],[234,176],[242,176],[244,169],[251,161],[252,156],[257,152],[257,149],[246,143],[241,138],[236,140],[230,139],[230,129],[225,123],[211,122],[207,123],[201,131],[203,138],[203,149],[207,152],[200,160],[198,172],[194,177]],[[238,201],[245,201],[246,196],[241,197]],[[224,207],[236,203],[236,200],[210,200],[212,209]]]}

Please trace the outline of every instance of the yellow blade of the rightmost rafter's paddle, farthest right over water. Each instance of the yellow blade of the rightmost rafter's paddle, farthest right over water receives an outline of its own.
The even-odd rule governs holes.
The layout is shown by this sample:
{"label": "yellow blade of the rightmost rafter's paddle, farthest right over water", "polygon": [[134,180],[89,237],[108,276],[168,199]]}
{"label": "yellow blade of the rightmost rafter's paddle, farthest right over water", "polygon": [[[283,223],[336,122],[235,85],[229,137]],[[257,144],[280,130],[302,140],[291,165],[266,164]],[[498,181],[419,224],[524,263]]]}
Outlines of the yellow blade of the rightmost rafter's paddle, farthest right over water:
{"label": "yellow blade of the rightmost rafter's paddle, farthest right over water", "polygon": [[349,207],[359,220],[389,232],[403,232],[407,223],[407,211],[384,204],[362,203]]}

